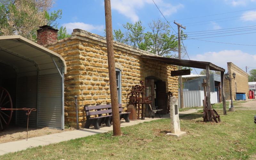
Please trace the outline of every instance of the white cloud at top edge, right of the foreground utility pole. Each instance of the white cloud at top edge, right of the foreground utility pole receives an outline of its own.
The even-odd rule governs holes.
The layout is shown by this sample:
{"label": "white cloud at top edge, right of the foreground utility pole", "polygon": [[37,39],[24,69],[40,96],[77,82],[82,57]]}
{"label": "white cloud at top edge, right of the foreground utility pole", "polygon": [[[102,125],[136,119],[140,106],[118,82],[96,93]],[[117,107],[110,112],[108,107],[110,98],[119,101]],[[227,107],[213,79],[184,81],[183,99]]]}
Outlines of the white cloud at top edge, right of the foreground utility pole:
{"label": "white cloud at top edge, right of the foreground utility pole", "polygon": [[[155,0],[155,3],[160,8],[161,12],[163,12],[164,16],[170,16],[171,14],[178,11],[178,9],[182,8],[182,4],[172,5],[170,3],[165,3],[163,0]],[[113,10],[116,10],[118,13],[123,14],[125,17],[132,20],[132,22],[136,22],[139,20],[139,16],[137,11],[143,8],[146,4],[152,4],[152,0],[112,0],[111,7]]]}

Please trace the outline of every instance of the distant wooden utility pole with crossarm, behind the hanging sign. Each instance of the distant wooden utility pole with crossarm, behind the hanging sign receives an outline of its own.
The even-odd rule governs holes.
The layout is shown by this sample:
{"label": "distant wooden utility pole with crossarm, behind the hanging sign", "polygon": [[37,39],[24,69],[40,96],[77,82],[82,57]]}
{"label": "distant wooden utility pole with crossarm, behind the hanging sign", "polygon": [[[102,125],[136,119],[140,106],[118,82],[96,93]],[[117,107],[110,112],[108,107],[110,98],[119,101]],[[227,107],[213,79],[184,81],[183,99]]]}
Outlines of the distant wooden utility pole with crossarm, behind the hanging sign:
{"label": "distant wooden utility pole with crossarm, behind the hanging sign", "polygon": [[[178,26],[178,49],[179,49],[179,59],[181,59],[181,51],[180,51],[180,27],[183,29],[186,29],[186,27],[183,27],[181,24],[176,23],[174,21],[174,24]],[[181,70],[181,66],[179,66],[179,70]],[[184,102],[183,102],[183,86],[182,86],[182,76],[179,76],[179,84],[180,84],[180,108],[184,107]]]}

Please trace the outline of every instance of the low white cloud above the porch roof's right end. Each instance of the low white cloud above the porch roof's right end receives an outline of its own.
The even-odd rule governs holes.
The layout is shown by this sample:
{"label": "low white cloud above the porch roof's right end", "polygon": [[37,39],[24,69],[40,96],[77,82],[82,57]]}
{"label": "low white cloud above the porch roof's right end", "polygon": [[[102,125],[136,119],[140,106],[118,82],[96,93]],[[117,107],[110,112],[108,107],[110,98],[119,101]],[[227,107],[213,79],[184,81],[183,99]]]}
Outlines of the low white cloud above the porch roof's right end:
{"label": "low white cloud above the porch roof's right end", "polygon": [[256,63],[256,54],[249,54],[241,50],[223,50],[219,52],[206,52],[191,56],[191,60],[208,61],[219,67],[227,69],[227,62],[232,62],[240,68]]}

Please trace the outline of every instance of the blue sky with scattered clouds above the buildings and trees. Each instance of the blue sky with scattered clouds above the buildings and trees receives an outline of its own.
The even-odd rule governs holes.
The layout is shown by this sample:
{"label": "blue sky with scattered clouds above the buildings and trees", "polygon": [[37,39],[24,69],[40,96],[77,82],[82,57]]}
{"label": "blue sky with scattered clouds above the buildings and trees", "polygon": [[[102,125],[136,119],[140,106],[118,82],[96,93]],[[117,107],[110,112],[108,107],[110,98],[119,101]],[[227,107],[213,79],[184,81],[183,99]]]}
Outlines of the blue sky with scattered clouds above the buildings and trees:
{"label": "blue sky with scattered clouds above the buildings and trees", "polygon": [[[177,26],[173,24],[173,20],[187,27],[184,32],[188,34],[188,39],[183,42],[191,60],[210,61],[225,69],[227,69],[227,62],[231,61],[244,70],[245,66],[249,66],[249,70],[256,69],[256,46],[233,45],[256,45],[256,33],[253,33],[256,32],[256,0],[154,1],[176,32]],[[111,7],[113,29],[120,28],[123,30],[122,24],[134,23],[138,20],[141,20],[146,28],[152,20],[165,21],[152,0],[111,0]],[[105,11],[103,0],[56,0],[52,10],[58,9],[63,12],[62,18],[58,22],[60,25],[66,26],[69,33],[74,28],[80,28],[104,36]],[[226,28],[234,29],[227,31]],[[192,35],[193,33],[191,33],[216,31],[224,31],[217,33],[225,34],[198,36],[199,34]],[[173,33],[175,34],[174,31]],[[231,34],[241,35],[226,36]],[[204,38],[209,36],[221,37]],[[189,38],[233,44],[205,42]],[[188,56],[184,55],[183,59],[188,59]],[[196,69],[196,71],[199,73],[200,69]],[[195,70],[192,73],[196,74]]]}

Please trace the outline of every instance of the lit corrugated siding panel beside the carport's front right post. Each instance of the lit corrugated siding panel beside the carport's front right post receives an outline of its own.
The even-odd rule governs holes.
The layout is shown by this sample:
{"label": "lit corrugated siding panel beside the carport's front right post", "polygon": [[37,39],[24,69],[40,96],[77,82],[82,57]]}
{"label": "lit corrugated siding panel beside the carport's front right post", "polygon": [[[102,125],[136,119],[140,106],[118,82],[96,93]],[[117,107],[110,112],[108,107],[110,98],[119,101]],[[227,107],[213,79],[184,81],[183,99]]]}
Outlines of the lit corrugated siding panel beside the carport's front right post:
{"label": "lit corrugated siding panel beside the carport's front right post", "polygon": [[38,127],[61,129],[61,100],[59,73],[39,75]]}

